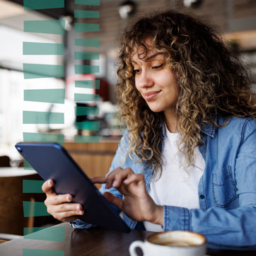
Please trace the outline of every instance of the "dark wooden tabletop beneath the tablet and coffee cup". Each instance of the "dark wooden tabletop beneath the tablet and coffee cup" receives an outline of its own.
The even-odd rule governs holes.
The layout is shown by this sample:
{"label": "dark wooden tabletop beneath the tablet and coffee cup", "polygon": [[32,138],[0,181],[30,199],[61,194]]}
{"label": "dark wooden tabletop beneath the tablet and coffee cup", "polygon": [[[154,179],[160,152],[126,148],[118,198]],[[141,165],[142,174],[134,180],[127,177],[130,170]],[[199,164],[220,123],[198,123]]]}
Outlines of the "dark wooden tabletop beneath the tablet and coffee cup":
{"label": "dark wooden tabletop beneath the tablet and coffee cup", "polygon": [[[32,240],[18,238],[0,245],[0,255],[23,256],[23,249],[37,250],[62,250],[65,256],[122,256],[129,255],[129,245],[134,240],[144,240],[152,232],[131,231],[130,233],[119,233],[107,231],[103,228],[74,229],[68,223],[61,223],[56,227],[64,226],[64,242],[47,240]],[[42,231],[38,231],[42,232]],[[47,254],[46,254],[47,255]],[[207,255],[255,255],[255,252],[238,252],[227,250],[208,250]],[[188,255],[190,256],[190,255]]]}

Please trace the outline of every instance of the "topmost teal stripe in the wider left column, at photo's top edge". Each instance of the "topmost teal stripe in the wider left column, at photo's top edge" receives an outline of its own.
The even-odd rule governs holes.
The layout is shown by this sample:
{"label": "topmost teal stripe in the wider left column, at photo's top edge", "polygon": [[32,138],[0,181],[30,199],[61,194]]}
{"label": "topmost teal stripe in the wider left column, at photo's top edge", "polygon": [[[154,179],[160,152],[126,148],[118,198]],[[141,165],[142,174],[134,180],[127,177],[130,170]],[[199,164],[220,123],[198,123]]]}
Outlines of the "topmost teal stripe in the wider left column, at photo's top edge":
{"label": "topmost teal stripe in the wider left column, at photo's top edge", "polygon": [[64,8],[64,0],[23,0],[25,10]]}

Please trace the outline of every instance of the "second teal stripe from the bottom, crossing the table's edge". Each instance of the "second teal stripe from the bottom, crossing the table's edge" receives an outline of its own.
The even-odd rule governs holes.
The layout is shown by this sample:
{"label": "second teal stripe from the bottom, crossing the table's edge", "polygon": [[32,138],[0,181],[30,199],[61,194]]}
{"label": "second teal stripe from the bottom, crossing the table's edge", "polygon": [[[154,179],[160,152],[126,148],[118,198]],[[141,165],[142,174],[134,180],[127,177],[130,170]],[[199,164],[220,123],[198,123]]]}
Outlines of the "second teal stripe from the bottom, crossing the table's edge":
{"label": "second teal stripe from the bottom, crossing the table's edge", "polygon": [[[27,233],[25,239],[35,239],[35,240],[50,240],[64,242],[65,240],[65,227],[50,227],[50,228],[33,228],[32,233],[30,232],[32,228],[24,228],[24,233]],[[28,233],[30,232],[30,233]]]}

